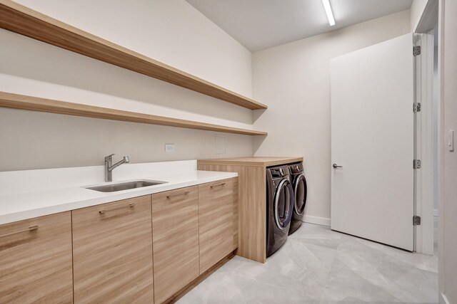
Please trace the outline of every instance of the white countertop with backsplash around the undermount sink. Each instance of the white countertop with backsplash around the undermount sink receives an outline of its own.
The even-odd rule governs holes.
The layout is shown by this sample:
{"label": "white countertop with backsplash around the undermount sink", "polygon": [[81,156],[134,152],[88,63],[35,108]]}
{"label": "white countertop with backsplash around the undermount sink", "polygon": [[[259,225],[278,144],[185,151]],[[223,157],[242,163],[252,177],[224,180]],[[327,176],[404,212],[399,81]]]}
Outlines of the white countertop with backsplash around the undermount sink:
{"label": "white countertop with backsplash around the undermount sink", "polygon": [[[197,171],[196,165],[194,168],[194,164],[190,163],[190,166],[181,166],[184,171],[180,171],[179,166],[176,167],[176,164],[172,164],[176,162],[168,163],[171,165],[169,169],[164,169],[164,166],[166,167],[166,163],[164,162],[148,163],[144,164],[144,166],[141,166],[141,164],[135,164],[134,166],[131,166],[129,170],[125,170],[125,168],[128,167],[125,166],[124,174],[119,172],[121,176],[115,179],[112,183],[105,183],[103,181],[94,182],[93,178],[88,177],[88,182],[86,183],[84,183],[85,179],[79,178],[79,182],[75,179],[71,180],[68,185],[61,182],[59,187],[54,188],[45,187],[46,177],[48,178],[47,180],[51,181],[57,179],[59,174],[62,173],[62,169],[60,169],[60,171],[59,169],[31,170],[29,171],[29,174],[27,174],[27,171],[0,172],[0,183],[3,183],[1,187],[4,188],[4,191],[0,192],[0,224],[7,224],[14,221],[31,219],[36,216],[55,214],[62,211],[104,204],[111,201],[119,201],[121,199],[130,199],[135,196],[164,192],[172,189],[179,189],[238,176],[236,172]],[[157,167],[156,164],[161,165],[161,169],[159,170],[160,173],[154,170],[154,167]],[[182,164],[182,162],[180,164]],[[99,167],[103,166],[75,168],[74,170],[71,170],[73,168],[68,168],[66,169],[65,173],[67,176],[65,177],[68,179],[69,171],[74,172],[79,170],[81,172],[81,170],[86,170],[85,172],[87,172],[88,168],[90,171],[95,172],[96,170],[96,174],[94,175],[100,175]],[[127,171],[129,171],[128,174]],[[116,169],[113,174],[116,176]],[[14,176],[14,180],[12,181],[11,176]],[[24,187],[26,188],[24,191],[16,189],[15,191],[6,193],[5,189],[8,186],[7,182],[14,184],[15,182],[17,183],[21,181],[21,183],[26,185],[28,182],[31,182],[27,181],[26,177],[34,177],[35,179],[39,177],[40,181],[36,181],[36,183],[39,183],[41,187],[37,189],[37,187],[32,187],[33,185],[30,185],[30,187]],[[122,177],[129,178],[122,179]],[[64,177],[61,177],[61,179],[65,180]],[[134,179],[149,179],[166,183],[137,189],[128,189],[119,192],[97,192],[95,190],[85,188],[106,184],[118,184],[119,182],[128,182]]]}

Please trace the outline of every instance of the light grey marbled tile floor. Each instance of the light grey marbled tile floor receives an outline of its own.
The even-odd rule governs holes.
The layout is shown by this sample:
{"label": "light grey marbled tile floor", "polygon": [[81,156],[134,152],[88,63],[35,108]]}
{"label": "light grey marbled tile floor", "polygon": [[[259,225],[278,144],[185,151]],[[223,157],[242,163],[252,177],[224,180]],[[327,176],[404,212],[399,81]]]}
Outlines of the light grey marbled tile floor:
{"label": "light grey marbled tile floor", "polygon": [[438,258],[303,224],[265,264],[235,256],[178,303],[438,303]]}

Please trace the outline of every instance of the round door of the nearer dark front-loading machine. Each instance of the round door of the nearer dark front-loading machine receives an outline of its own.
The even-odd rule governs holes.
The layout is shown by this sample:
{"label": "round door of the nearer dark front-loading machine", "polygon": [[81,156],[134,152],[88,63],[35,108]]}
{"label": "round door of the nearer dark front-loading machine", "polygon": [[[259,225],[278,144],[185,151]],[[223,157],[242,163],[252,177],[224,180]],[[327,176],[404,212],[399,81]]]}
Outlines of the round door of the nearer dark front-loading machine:
{"label": "round door of the nearer dark front-loading machine", "polygon": [[287,179],[281,180],[274,195],[274,220],[279,229],[291,222],[293,210],[293,188]]}

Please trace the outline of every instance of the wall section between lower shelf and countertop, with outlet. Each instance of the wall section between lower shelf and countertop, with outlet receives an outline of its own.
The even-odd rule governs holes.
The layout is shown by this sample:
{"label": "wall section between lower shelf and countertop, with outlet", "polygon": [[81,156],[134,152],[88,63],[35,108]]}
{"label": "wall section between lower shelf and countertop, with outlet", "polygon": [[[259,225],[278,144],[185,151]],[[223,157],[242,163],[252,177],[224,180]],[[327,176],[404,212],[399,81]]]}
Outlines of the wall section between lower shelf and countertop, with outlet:
{"label": "wall section between lower shelf and countertop, with outlet", "polygon": [[[111,153],[132,163],[215,158],[214,135],[226,137],[227,155],[251,155],[243,135],[1,109],[0,171],[99,165]],[[175,152],[164,152],[166,143]]]}

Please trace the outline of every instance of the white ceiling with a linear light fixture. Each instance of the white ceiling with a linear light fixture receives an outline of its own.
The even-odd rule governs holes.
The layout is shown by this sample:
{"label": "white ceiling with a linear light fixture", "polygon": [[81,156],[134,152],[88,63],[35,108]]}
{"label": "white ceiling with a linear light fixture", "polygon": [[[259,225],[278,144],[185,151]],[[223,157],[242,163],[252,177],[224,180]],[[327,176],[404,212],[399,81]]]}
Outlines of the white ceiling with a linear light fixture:
{"label": "white ceiling with a linear light fixture", "polygon": [[255,52],[411,8],[413,0],[330,0],[329,26],[321,0],[186,0]]}

